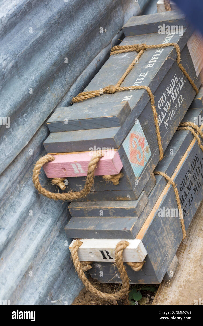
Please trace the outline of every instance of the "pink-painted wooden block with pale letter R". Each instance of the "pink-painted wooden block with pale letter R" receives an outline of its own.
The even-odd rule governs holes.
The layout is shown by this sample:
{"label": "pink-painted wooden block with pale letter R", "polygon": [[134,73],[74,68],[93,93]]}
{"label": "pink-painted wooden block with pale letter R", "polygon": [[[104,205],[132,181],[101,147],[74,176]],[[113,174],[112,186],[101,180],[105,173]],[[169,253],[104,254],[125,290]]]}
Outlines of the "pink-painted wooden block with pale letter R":
{"label": "pink-painted wooden block with pale letter R", "polygon": [[[48,178],[82,177],[87,175],[88,164],[93,152],[53,155],[55,160],[48,162],[43,169]],[[118,174],[123,168],[117,151],[105,151],[100,158],[94,175]]]}

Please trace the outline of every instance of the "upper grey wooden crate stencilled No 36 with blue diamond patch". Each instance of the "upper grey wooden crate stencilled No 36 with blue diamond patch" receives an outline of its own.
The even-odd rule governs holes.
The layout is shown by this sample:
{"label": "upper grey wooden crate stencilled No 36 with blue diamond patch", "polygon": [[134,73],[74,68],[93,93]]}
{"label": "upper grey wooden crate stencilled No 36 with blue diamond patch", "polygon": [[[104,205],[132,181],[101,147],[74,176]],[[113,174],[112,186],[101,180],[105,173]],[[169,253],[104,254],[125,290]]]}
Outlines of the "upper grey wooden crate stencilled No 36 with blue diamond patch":
{"label": "upper grey wooden crate stencilled No 36 with blue diamond patch", "polygon": [[[176,14],[175,16],[173,14],[173,16],[170,16],[167,13],[167,15],[167,19],[169,20],[171,18],[174,24],[176,22],[184,22],[182,14]],[[150,18],[149,16],[151,15],[148,15],[147,19]],[[144,19],[144,16],[142,17]],[[160,22],[160,18],[158,22]],[[136,25],[136,18],[134,24]],[[143,28],[146,28],[144,20],[140,23],[140,17],[139,24],[139,28],[143,26]],[[127,26],[124,26],[123,29],[124,32],[127,31]],[[178,34],[167,36],[150,33],[125,37],[122,44],[143,42],[156,44],[163,43],[164,41],[177,42],[181,49],[182,65],[188,68],[190,76],[193,79],[195,78],[194,81],[197,87],[199,87],[201,82],[200,79],[197,79],[193,60],[191,59],[191,57],[197,56],[198,53],[194,50],[191,54],[188,51],[187,45],[185,45],[191,35],[192,31],[190,28],[184,28],[182,36]],[[150,86],[155,96],[160,133],[163,140],[163,149],[165,150],[191,104],[195,96],[195,91],[174,61],[177,56],[175,49],[173,47],[166,47],[161,50],[158,49],[158,51],[157,49],[145,51],[139,59],[139,63],[124,80],[122,86],[140,85],[140,82],[141,84]],[[135,55],[134,52],[127,52],[110,56],[106,64],[88,85],[88,90],[104,87],[107,81],[109,84],[115,84],[132,62]],[[152,60],[152,56],[157,59]],[[167,89],[172,89],[170,87],[174,89],[174,93],[168,93],[168,98],[163,103],[162,98],[164,94],[167,94]],[[84,119],[81,119],[78,114],[81,111],[83,112],[81,116]],[[98,125],[95,125],[95,121],[92,120],[95,119],[95,112],[97,118],[103,119],[102,127],[101,120],[98,121]],[[77,115],[80,123],[75,128],[73,124],[75,124]],[[118,115],[124,117],[122,119],[119,118],[120,125],[109,127],[112,116],[118,117]],[[73,151],[89,151],[90,148],[114,148],[118,151],[123,164],[121,170],[123,178],[120,179],[119,185],[107,184],[101,176],[96,176],[92,191],[85,199],[80,199],[80,201],[99,201],[101,198],[102,200],[137,200],[159,161],[156,131],[147,92],[145,90],[125,91],[111,95],[97,96],[84,102],[75,103],[71,107],[57,109],[51,117],[52,120],[48,121],[48,125],[50,124],[51,126],[52,122],[55,124],[57,116],[61,122],[68,118],[70,121],[74,121],[73,124],[71,123],[71,128],[75,128],[76,130],[52,132],[44,142],[45,149],[48,152],[70,153]],[[118,119],[116,121],[118,122]],[[93,122],[92,128],[94,129],[85,129],[87,122],[88,124]],[[66,128],[68,124],[64,126]],[[77,130],[78,126],[85,130]],[[90,125],[88,125],[88,128],[90,128]],[[59,131],[59,129],[55,129],[55,131]],[[137,144],[137,147],[135,144]],[[58,175],[58,177],[60,176]],[[68,182],[69,187],[67,190],[80,190],[84,186],[85,178],[68,178]],[[151,191],[152,187],[149,187],[149,189]]]}

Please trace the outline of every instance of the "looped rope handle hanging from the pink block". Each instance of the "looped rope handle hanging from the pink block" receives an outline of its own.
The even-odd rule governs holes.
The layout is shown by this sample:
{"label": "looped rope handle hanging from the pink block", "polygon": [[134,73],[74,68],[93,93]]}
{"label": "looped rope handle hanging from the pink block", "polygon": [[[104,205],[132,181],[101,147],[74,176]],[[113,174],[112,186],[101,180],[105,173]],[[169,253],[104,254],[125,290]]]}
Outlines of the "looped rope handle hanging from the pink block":
{"label": "looped rope handle hanging from the pink block", "polygon": [[[38,161],[36,162],[34,170],[33,170],[33,178],[32,178],[33,183],[34,183],[36,189],[38,190],[38,192],[40,194],[42,194],[45,197],[54,199],[54,200],[71,201],[71,200],[74,200],[74,199],[85,197],[87,194],[90,193],[92,185],[94,185],[94,170],[96,168],[96,165],[97,165],[100,157],[102,157],[102,156],[103,156],[103,154],[98,151],[98,152],[96,152],[96,155],[91,158],[90,163],[88,165],[88,171],[87,171],[85,186],[80,191],[75,191],[75,192],[69,191],[67,193],[62,193],[62,194],[58,193],[57,194],[57,193],[53,193],[53,192],[50,192],[50,191],[46,190],[45,188],[43,188],[40,185],[39,174],[40,174],[41,167],[44,164],[46,164],[46,163],[48,163],[50,161],[53,161],[55,159],[50,154],[47,154],[47,155],[39,158]],[[61,182],[63,181],[63,179],[65,180],[65,178],[55,178],[55,179],[56,180],[54,180],[54,179],[52,180],[52,183],[63,186],[61,184]]]}

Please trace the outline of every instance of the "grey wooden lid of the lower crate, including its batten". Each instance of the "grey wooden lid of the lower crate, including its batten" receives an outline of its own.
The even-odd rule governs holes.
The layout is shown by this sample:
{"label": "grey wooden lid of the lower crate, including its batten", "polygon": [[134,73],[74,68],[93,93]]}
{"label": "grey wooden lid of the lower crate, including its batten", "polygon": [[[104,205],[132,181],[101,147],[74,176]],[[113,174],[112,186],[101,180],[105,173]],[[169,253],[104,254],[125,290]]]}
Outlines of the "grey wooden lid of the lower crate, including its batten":
{"label": "grey wooden lid of the lower crate, including its batten", "polygon": [[[182,122],[196,122],[196,120],[201,122],[199,117],[202,116],[202,110],[202,103],[201,108],[193,109],[191,106]],[[192,139],[193,135],[189,130],[178,130],[167,146],[165,157],[158,163],[155,171],[162,171],[171,176]],[[139,200],[72,202],[69,205],[72,217],[65,227],[68,237],[134,239],[166,186],[167,182],[162,176],[155,175],[155,178],[156,185],[147,201],[145,201],[146,196],[141,197],[142,194]]]}

